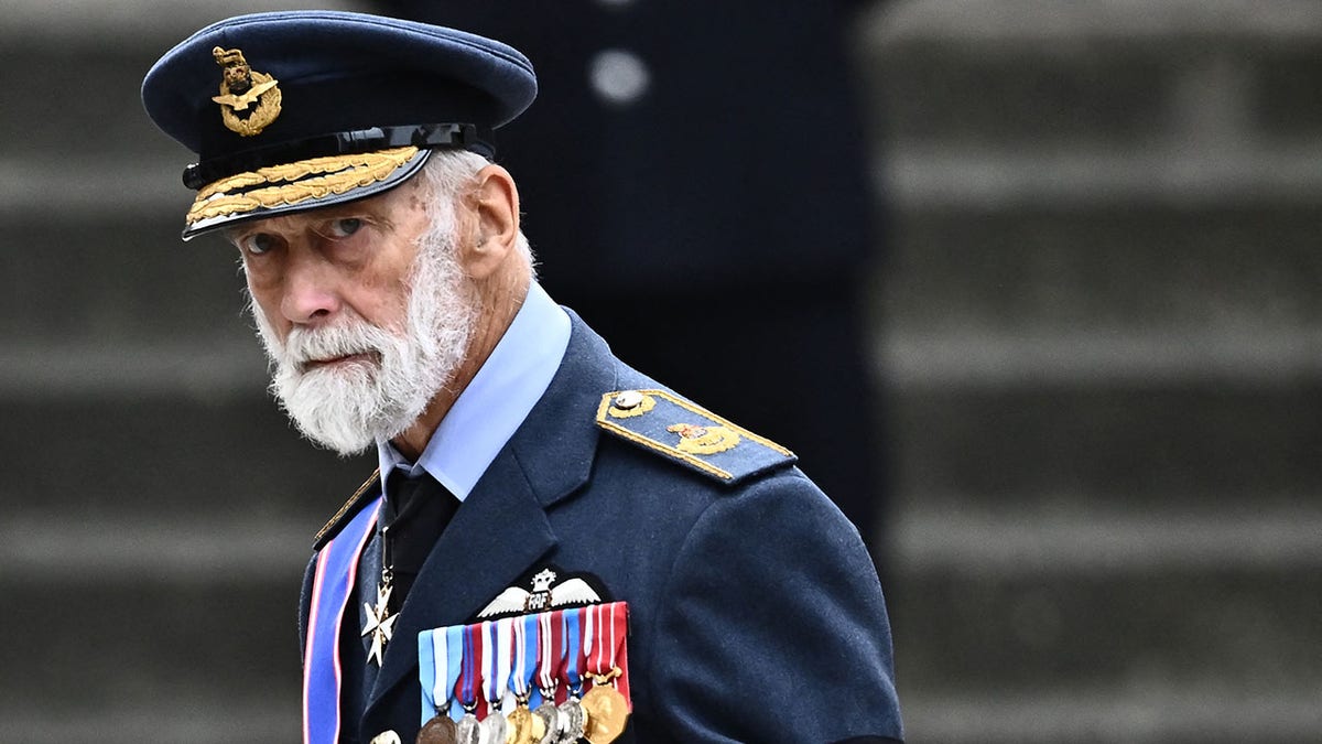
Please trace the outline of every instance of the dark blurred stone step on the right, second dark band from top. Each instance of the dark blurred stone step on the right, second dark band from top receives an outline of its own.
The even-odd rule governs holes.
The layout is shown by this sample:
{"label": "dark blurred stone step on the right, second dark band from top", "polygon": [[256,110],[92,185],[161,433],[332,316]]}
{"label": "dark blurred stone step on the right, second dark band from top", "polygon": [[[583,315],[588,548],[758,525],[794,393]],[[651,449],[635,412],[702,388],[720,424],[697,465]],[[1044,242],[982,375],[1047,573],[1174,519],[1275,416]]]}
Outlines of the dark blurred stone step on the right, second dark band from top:
{"label": "dark blurred stone step on the right, second dark band from top", "polygon": [[[1319,160],[1322,165],[1322,160]],[[1310,201],[899,213],[880,269],[891,330],[1322,327]]]}

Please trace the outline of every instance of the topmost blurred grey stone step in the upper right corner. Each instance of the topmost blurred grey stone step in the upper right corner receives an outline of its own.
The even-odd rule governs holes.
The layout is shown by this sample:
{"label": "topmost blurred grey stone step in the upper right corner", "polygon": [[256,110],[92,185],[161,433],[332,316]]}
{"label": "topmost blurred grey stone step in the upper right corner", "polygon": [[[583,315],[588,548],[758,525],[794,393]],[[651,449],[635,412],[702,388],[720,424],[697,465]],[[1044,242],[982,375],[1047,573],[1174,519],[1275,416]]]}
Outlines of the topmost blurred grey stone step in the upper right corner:
{"label": "topmost blurred grey stone step in the upper right corner", "polygon": [[895,1],[857,40],[874,119],[902,142],[1040,148],[1315,136],[1309,0]]}

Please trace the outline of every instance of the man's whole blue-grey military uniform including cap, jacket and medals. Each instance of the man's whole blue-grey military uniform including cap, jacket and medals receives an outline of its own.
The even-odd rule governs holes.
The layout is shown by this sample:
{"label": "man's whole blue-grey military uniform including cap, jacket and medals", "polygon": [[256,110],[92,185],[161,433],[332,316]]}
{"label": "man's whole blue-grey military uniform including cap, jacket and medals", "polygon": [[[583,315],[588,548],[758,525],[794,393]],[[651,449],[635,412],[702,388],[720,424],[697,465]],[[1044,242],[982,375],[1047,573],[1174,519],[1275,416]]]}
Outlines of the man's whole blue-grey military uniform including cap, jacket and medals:
{"label": "man's whole blue-grey military uniform including cap, jacket and medals", "polygon": [[[493,40],[291,12],[200,30],[152,68],[143,99],[198,154],[184,175],[198,189],[185,218],[192,237],[383,193],[438,150],[490,158],[490,130],[535,91],[531,64]],[[460,406],[484,372],[513,365],[497,355],[537,356],[537,334],[516,327],[539,291],[522,298],[418,466],[451,441],[440,434],[447,428],[471,463],[484,462],[473,434],[490,409],[465,418],[475,398],[464,416]],[[300,613],[304,741],[414,741],[424,723],[453,725],[463,714],[459,740],[500,744],[505,736],[488,724],[521,711],[526,720],[521,706],[492,711],[510,702],[506,691],[520,695],[506,682],[529,649],[550,659],[537,665],[554,673],[542,696],[559,704],[549,706],[558,723],[543,744],[576,740],[584,711],[596,733],[603,720],[619,724],[609,737],[588,735],[592,744],[899,740],[890,625],[858,531],[788,450],[635,372],[582,320],[551,308],[566,346],[542,368],[545,392],[537,397],[543,388],[514,376],[509,389],[526,393],[526,405],[501,438],[486,440],[490,463],[473,466],[471,488],[453,492],[461,506],[451,504],[452,516],[428,512],[432,536],[399,543],[416,557],[405,561],[401,606],[391,602],[403,563],[377,545],[394,544],[390,530],[411,504],[438,502],[414,491],[397,503],[369,481],[319,536]],[[553,573],[568,579],[558,585]],[[530,643],[510,645],[510,613],[561,625],[543,631],[521,621]],[[615,633],[617,618],[627,633]],[[449,643],[452,631],[461,646]],[[443,639],[447,654],[423,653]],[[576,694],[555,696],[567,694],[557,687],[562,667],[566,687],[584,691],[582,707]],[[485,710],[479,682],[492,702]],[[599,691],[608,704],[588,706]],[[456,695],[472,707],[456,708]],[[473,728],[479,716],[484,736]]]}

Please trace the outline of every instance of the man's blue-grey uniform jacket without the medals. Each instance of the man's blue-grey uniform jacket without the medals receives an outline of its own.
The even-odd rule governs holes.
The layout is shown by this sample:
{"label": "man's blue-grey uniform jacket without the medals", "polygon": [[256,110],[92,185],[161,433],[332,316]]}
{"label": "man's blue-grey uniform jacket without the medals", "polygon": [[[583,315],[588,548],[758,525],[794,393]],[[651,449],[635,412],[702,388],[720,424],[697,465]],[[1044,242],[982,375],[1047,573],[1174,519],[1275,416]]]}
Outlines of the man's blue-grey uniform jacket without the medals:
{"label": "man's blue-grey uniform jacket without the medals", "polygon": [[[633,714],[617,741],[900,740],[890,622],[854,526],[792,455],[754,436],[719,455],[683,458],[631,433],[648,425],[664,432],[666,417],[722,422],[697,406],[658,405],[648,416],[660,420],[599,425],[608,396],[662,388],[571,318],[550,388],[436,541],[375,683],[346,706],[362,715],[346,723],[345,740],[366,743],[393,729],[412,741],[418,633],[473,622],[543,565],[588,575],[629,604]],[[360,506],[377,492],[368,487]],[[328,526],[329,535],[353,512]],[[369,557],[362,573],[370,576],[379,564],[368,565]],[[344,622],[353,641],[356,617],[350,610]],[[350,653],[344,663],[361,669],[364,657]]]}

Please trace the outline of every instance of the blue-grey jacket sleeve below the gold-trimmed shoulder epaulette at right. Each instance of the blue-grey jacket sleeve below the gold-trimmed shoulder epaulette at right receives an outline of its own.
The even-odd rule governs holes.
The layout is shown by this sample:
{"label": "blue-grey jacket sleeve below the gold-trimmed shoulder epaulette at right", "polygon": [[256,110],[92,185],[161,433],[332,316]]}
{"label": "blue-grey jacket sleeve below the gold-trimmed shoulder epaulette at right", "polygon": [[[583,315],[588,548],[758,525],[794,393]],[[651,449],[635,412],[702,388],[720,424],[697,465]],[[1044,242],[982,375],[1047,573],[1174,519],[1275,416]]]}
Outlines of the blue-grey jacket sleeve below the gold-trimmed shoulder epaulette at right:
{"label": "blue-grey jacket sleeve below the gold-trimmed shoulder epaulette at right", "polygon": [[876,571],[797,470],[707,507],[662,606],[650,692],[676,740],[903,739]]}

